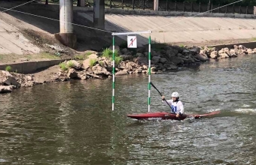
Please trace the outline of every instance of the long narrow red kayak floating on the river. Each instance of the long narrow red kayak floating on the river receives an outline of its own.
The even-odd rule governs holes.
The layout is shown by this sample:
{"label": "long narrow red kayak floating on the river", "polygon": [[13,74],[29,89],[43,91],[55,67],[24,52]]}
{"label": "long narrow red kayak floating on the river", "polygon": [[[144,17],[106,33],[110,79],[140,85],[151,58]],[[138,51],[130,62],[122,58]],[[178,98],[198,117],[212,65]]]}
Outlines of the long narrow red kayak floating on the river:
{"label": "long narrow red kayak floating on the river", "polygon": [[206,113],[203,115],[180,115],[176,118],[176,115],[173,113],[141,113],[134,115],[126,115],[130,118],[136,118],[137,120],[184,120],[185,118],[205,118],[211,115],[217,115],[220,111],[215,111],[212,113]]}

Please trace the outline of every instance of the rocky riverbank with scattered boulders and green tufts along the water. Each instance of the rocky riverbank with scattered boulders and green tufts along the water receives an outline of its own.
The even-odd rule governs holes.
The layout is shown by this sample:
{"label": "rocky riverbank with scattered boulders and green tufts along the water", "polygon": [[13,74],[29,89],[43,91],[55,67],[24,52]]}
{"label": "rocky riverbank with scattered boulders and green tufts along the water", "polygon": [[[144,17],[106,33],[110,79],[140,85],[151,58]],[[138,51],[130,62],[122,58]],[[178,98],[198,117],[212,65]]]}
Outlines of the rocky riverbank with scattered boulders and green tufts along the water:
{"label": "rocky riverbank with scattered boulders and green tufts along the water", "polygon": [[[151,73],[178,69],[182,65],[200,64],[212,59],[234,58],[238,55],[250,55],[255,49],[245,46],[233,46],[233,49],[198,46],[152,45]],[[148,74],[148,46],[138,49],[120,49],[116,46],[115,75]],[[17,74],[0,71],[0,93],[11,92],[20,87],[36,84],[68,81],[104,79],[112,77],[111,47],[103,52],[92,52],[87,59],[74,59],[63,62],[36,74]]]}

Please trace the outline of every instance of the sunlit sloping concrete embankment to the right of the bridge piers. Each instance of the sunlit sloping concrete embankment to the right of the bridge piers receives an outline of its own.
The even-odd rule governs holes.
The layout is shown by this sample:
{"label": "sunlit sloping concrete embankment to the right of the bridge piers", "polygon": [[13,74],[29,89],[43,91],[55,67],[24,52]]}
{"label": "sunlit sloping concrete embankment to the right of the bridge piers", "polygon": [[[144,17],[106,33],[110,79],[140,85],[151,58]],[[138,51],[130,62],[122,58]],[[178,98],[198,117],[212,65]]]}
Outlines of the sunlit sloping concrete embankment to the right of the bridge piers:
{"label": "sunlit sloping concrete embankment to the right of the bridge piers", "polygon": [[[156,43],[207,43],[210,40],[256,37],[254,19],[106,14],[105,21],[108,31],[152,30],[151,38]],[[148,37],[147,34],[141,36]],[[126,36],[122,38],[126,40]],[[139,40],[138,43],[146,44],[148,41]]]}

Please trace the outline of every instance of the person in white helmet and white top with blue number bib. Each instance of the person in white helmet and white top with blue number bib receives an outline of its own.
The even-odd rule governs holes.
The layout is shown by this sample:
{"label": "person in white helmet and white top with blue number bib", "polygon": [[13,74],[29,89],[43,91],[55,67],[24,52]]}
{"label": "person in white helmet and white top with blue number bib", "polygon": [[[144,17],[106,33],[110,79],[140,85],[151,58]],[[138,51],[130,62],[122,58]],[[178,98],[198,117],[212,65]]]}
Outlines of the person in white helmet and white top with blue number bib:
{"label": "person in white helmet and white top with blue number bib", "polygon": [[[165,97],[162,96],[162,102],[164,101]],[[179,115],[184,113],[184,107],[181,101],[178,100],[178,92],[172,93],[172,99],[166,100],[167,103],[172,107],[171,113],[175,113],[176,117],[178,118]],[[165,101],[164,101],[165,102]]]}

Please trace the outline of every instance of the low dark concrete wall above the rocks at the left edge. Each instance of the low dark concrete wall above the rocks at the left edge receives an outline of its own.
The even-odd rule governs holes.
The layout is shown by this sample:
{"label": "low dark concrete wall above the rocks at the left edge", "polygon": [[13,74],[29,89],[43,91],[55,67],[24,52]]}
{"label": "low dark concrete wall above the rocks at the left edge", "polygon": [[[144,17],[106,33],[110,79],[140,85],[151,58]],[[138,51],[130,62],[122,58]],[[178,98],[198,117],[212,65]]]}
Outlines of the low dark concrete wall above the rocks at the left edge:
{"label": "low dark concrete wall above the rocks at the left edge", "polygon": [[[32,74],[42,69],[49,68],[53,65],[59,65],[61,62],[65,62],[69,59],[56,59],[56,60],[46,60],[40,62],[22,62],[15,64],[8,64],[11,66],[11,71],[14,71],[20,74]],[[5,70],[7,65],[0,65],[0,70]]]}

